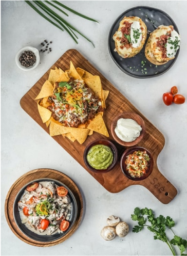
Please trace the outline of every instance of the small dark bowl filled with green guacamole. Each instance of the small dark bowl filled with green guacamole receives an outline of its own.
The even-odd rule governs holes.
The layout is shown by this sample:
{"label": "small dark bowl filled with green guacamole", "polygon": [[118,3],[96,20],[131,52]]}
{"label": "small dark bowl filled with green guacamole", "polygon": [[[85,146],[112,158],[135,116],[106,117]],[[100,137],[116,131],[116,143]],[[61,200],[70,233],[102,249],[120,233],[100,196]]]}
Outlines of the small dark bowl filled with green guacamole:
{"label": "small dark bowl filled with green guacamole", "polygon": [[105,173],[115,168],[118,161],[118,150],[113,142],[98,139],[90,142],[84,150],[84,163],[88,170]]}

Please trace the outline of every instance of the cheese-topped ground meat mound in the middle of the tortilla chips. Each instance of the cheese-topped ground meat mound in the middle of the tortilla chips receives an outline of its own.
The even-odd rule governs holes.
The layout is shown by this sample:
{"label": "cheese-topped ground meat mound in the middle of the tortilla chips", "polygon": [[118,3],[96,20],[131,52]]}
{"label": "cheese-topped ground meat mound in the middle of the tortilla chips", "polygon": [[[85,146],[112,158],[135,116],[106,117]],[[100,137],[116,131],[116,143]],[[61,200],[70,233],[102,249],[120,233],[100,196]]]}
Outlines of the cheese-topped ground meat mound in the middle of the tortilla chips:
{"label": "cheese-topped ground meat mound in the middle of the tortilla chips", "polygon": [[70,127],[78,127],[103,111],[102,103],[94,92],[82,80],[73,78],[68,82],[56,82],[48,102],[52,117]]}

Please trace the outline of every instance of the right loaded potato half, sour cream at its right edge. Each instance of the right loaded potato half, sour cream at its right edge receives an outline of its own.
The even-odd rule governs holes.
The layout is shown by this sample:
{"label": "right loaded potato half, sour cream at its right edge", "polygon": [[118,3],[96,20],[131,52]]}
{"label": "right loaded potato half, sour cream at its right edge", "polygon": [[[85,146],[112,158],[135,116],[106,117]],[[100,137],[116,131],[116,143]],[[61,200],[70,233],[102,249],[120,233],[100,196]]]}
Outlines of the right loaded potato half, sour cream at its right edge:
{"label": "right loaded potato half, sour cream at its right edge", "polygon": [[160,25],[145,45],[145,57],[155,65],[163,65],[175,58],[180,47],[180,36],[172,25]]}

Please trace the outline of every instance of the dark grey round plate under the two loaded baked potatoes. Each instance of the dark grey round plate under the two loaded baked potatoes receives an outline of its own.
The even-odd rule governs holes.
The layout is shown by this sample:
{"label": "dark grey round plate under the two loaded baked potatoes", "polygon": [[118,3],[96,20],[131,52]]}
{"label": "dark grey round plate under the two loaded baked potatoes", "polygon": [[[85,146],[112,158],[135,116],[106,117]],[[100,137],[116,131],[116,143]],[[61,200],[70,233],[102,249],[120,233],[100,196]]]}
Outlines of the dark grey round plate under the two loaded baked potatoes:
{"label": "dark grey round plate under the two loaded baked potatoes", "polygon": [[124,59],[120,57],[117,52],[114,52],[115,42],[113,40],[113,35],[118,30],[119,23],[124,16],[126,17],[137,16],[141,18],[147,26],[147,39],[149,37],[149,33],[153,32],[153,30],[155,30],[160,25],[165,25],[165,26],[173,25],[174,29],[179,34],[179,30],[175,22],[167,13],[165,13],[162,10],[148,7],[148,6],[137,6],[137,7],[128,9],[117,18],[117,20],[114,22],[113,26],[109,31],[108,50],[111,58],[114,60],[116,65],[127,75],[130,75],[136,78],[151,78],[151,77],[159,76],[165,73],[167,70],[169,70],[174,65],[180,49],[177,51],[174,59],[170,60],[165,65],[160,65],[160,66],[156,66],[152,64],[145,57],[144,51],[145,51],[145,44],[147,39],[145,41],[144,47],[141,50],[141,52],[132,58]]}

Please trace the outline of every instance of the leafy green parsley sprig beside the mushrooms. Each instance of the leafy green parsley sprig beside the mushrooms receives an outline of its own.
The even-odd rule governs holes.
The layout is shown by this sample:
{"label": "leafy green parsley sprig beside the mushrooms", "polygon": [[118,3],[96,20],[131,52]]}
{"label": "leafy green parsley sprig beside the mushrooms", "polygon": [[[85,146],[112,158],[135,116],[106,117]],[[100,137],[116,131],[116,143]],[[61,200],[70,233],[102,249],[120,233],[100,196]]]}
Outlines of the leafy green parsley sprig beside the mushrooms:
{"label": "leafy green parsley sprig beside the mushrooms", "polygon": [[[187,248],[187,241],[173,232],[172,228],[175,226],[175,222],[170,216],[164,217],[159,215],[159,217],[155,217],[152,209],[146,207],[139,209],[136,207],[131,218],[134,221],[138,221],[138,225],[133,228],[134,233],[138,233],[144,227],[147,227],[149,231],[154,233],[154,239],[159,239],[169,246],[173,256],[177,256],[174,246],[179,248],[181,256],[187,255],[184,253]],[[151,225],[147,225],[147,221],[150,222]],[[167,230],[170,230],[174,234],[173,239],[170,240],[169,237],[167,237]]]}

